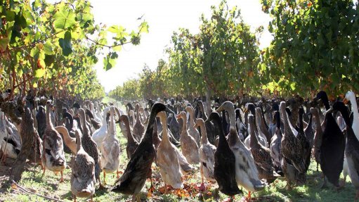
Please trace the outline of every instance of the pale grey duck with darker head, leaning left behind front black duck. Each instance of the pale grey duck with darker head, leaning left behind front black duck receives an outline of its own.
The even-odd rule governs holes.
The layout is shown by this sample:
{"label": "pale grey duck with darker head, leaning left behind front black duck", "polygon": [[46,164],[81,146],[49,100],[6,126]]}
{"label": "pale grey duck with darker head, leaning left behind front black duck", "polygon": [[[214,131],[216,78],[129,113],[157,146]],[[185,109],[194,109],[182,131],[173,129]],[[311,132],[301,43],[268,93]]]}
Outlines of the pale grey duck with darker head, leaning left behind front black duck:
{"label": "pale grey duck with darker head, leaning left behind front black duck", "polygon": [[235,108],[233,103],[225,101],[216,109],[217,112],[223,110],[228,112],[230,120],[230,133],[227,135],[227,138],[230,150],[233,151],[235,155],[235,179],[238,185],[247,189],[247,198],[250,199],[252,192],[264,189],[266,184],[259,179],[259,172],[254,163],[252,153],[244,146],[242,141],[240,141],[237,131],[235,130]]}

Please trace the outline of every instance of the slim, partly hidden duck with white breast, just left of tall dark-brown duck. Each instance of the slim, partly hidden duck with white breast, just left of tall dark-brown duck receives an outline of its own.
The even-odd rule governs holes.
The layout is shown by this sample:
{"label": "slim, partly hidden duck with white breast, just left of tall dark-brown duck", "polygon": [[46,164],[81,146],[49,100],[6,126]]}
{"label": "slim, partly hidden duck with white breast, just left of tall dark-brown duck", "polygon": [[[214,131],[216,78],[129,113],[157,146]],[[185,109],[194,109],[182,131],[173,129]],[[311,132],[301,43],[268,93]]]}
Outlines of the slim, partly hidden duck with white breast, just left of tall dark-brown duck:
{"label": "slim, partly hidden duck with white breast, just left of tall dark-brown duck", "polygon": [[270,156],[272,156],[273,163],[275,170],[278,172],[282,171],[281,163],[282,163],[282,151],[281,151],[281,141],[282,141],[282,130],[280,130],[280,113],[279,111],[275,111],[274,113],[274,120],[275,120],[275,130],[270,139]]}

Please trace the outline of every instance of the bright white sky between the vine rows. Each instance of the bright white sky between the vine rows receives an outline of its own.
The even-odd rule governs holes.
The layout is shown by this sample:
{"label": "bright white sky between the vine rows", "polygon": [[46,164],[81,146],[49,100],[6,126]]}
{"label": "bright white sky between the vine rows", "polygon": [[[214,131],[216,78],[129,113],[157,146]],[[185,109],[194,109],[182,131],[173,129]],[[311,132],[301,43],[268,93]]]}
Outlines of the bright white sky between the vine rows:
{"label": "bright white sky between the vine rows", "polygon": [[[148,22],[149,33],[143,34],[141,44],[126,44],[119,52],[117,64],[111,70],[103,70],[102,58],[95,68],[100,83],[108,92],[122,85],[126,80],[138,77],[147,64],[152,70],[157,67],[160,58],[167,60],[164,49],[170,45],[173,32],[179,27],[198,33],[202,13],[209,18],[211,6],[218,6],[221,0],[90,0],[96,23],[122,25],[127,31],[136,30],[140,24],[137,18],[143,15]],[[259,0],[228,0],[229,8],[240,8],[245,23],[255,30],[263,25],[261,48],[269,46],[273,38],[267,27],[269,15],[261,11]]]}

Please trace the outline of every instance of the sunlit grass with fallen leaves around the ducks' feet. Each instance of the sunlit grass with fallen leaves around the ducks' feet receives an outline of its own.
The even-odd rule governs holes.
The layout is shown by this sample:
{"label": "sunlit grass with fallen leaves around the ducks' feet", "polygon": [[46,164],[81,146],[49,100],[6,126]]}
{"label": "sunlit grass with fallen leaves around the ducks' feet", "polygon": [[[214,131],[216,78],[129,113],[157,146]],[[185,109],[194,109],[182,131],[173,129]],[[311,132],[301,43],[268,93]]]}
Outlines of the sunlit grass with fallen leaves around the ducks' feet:
{"label": "sunlit grass with fallen leaves around the ducks' feet", "polygon": [[[119,132],[117,126],[117,136],[120,139],[122,149],[120,160],[120,171],[124,171],[128,159],[126,158],[126,139]],[[70,163],[70,156],[67,155],[67,163]],[[164,186],[159,171],[155,168],[155,163],[152,165],[155,191],[147,198],[147,189],[150,187],[150,181],[147,180],[143,193],[141,194],[142,201],[223,201],[227,198],[224,194],[216,191],[216,184],[209,184],[209,193],[205,197],[199,196],[196,186],[200,184],[199,170],[185,176],[185,191],[183,194],[162,194],[161,187]],[[263,191],[252,194],[254,197],[252,201],[354,201],[355,189],[350,182],[349,177],[345,187],[337,191],[333,187],[328,189],[320,189],[322,184],[322,172],[316,171],[316,163],[312,162],[307,173],[307,183],[300,187],[294,187],[288,190],[285,186],[287,182],[285,179],[277,179],[274,184],[270,184]],[[72,193],[70,190],[70,175],[71,170],[67,168],[64,172],[64,183],[59,183],[60,175],[55,175],[54,172],[46,171],[42,175],[42,170],[39,166],[28,165],[25,172],[22,174],[22,179],[18,184],[28,191],[40,194],[42,196],[49,196],[57,198],[61,201],[72,201]],[[343,179],[343,175],[341,175]],[[101,175],[103,180],[103,175]],[[115,183],[116,175],[107,175],[107,187],[109,189],[96,190],[94,201],[131,201],[131,196],[117,194],[110,191],[110,187]],[[242,201],[243,196],[247,196],[245,190],[244,194],[235,196],[235,201]],[[216,198],[216,199],[215,199]],[[78,198],[78,201],[86,201],[89,198]],[[18,187],[11,186],[6,180],[1,180],[0,177],[0,202],[7,201],[47,201],[45,198],[36,196],[34,194],[27,194],[22,192]]]}

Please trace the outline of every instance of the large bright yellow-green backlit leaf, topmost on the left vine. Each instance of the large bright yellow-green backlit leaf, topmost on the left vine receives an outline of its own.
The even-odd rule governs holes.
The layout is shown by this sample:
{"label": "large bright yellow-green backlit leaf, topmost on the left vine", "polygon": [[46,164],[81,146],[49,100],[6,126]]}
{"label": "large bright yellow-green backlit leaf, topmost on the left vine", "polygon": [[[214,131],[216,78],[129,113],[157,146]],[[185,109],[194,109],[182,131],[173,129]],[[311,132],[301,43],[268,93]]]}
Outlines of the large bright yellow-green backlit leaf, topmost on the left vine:
{"label": "large bright yellow-green backlit leaf, topmost on the left vine", "polygon": [[74,11],[65,10],[65,7],[62,8],[63,9],[59,10],[55,15],[53,15],[53,18],[55,19],[53,25],[56,29],[66,30],[76,23],[76,15],[74,14]]}

